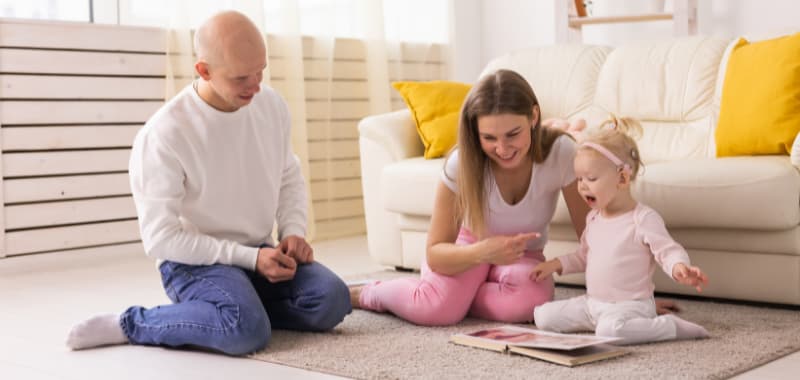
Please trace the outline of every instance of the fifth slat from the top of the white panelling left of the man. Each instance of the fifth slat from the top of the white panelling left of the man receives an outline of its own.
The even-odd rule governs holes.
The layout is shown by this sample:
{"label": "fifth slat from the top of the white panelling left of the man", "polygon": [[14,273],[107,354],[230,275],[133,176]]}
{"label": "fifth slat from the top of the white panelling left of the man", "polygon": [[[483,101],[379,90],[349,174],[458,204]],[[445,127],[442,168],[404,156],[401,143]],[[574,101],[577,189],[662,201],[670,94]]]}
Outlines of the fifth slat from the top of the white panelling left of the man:
{"label": "fifth slat from the top of the white panelling left of the man", "polygon": [[3,151],[130,147],[141,125],[2,128]]}

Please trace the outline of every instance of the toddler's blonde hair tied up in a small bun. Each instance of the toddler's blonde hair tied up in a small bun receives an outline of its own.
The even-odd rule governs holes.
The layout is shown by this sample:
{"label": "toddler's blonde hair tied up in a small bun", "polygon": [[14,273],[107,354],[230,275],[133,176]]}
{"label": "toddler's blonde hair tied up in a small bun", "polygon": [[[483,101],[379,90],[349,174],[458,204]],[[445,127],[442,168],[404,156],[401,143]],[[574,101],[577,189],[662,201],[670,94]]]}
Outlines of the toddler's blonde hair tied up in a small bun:
{"label": "toddler's blonde hair tied up in a small bun", "polygon": [[[590,142],[599,144],[608,149],[624,164],[631,168],[631,180],[636,179],[639,168],[643,167],[636,139],[642,136],[642,125],[638,120],[630,117],[618,118],[609,115],[608,119],[596,128],[591,128],[583,134],[581,143]],[[579,149],[593,150],[588,146],[579,145]]]}

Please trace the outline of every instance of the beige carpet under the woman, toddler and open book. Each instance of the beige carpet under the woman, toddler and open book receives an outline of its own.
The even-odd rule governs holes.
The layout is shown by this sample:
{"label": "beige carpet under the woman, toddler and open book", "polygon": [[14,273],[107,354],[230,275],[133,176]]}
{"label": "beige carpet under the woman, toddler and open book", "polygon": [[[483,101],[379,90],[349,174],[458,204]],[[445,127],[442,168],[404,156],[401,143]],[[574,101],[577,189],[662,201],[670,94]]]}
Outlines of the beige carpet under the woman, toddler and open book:
{"label": "beige carpet under the woman, toddler and open book", "polygon": [[[559,287],[556,299],[582,292]],[[274,331],[270,346],[251,357],[363,379],[720,379],[800,349],[798,311],[679,303],[679,315],[706,327],[711,339],[630,346],[631,355],[574,368],[448,343],[451,334],[497,323],[467,319],[452,327],[419,327],[363,310],[328,333]]]}

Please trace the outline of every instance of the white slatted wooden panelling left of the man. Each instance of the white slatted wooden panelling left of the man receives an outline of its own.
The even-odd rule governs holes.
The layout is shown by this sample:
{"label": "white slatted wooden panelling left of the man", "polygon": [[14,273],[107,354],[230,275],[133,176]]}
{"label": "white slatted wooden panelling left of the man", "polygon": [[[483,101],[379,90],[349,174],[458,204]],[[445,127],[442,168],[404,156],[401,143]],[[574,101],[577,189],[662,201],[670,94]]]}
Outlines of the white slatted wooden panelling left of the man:
{"label": "white slatted wooden panelling left of the man", "polygon": [[136,131],[163,104],[162,30],[0,20],[0,257],[140,247]]}

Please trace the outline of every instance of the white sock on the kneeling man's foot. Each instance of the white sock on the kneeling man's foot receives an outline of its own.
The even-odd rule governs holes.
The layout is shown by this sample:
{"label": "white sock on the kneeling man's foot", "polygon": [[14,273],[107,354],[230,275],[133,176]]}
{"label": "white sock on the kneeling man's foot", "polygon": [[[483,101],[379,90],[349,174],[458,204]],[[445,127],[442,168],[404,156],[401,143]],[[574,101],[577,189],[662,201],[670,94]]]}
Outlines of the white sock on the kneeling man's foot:
{"label": "white sock on the kneeling man's foot", "polygon": [[119,325],[119,314],[99,314],[73,326],[67,347],[73,350],[128,343]]}

